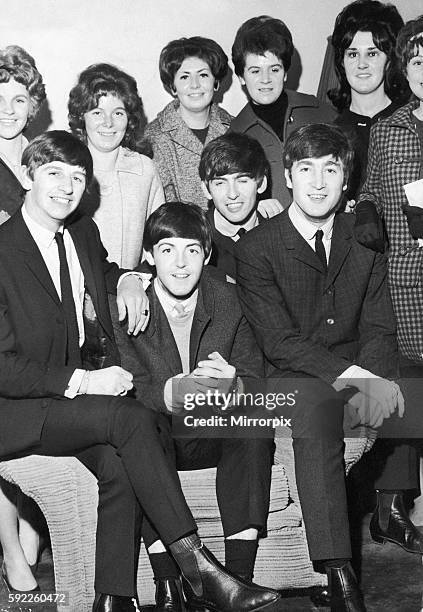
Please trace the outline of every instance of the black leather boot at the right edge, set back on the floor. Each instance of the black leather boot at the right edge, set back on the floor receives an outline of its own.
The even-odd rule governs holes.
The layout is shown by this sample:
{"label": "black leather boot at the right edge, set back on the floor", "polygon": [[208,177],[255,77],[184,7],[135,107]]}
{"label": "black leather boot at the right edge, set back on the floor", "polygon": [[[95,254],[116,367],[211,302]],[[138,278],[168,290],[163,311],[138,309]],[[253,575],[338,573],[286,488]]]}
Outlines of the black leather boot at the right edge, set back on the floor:
{"label": "black leather boot at the right edge, set back on the floor", "polygon": [[408,517],[402,493],[391,494],[392,502],[389,508],[382,506],[382,495],[388,494],[377,491],[377,505],[370,520],[372,539],[379,544],[392,542],[407,552],[423,554],[422,534]]}

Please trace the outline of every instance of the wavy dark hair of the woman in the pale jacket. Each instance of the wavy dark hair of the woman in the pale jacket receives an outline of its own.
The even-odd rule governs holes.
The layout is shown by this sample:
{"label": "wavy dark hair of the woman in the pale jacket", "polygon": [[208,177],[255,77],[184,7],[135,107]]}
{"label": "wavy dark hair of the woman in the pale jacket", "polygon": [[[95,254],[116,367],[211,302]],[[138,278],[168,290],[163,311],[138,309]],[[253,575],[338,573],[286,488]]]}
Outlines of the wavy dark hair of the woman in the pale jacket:
{"label": "wavy dark hair of the woman in the pale jacket", "polygon": [[122,100],[128,115],[128,126],[122,146],[136,148],[137,133],[144,120],[142,100],[135,79],[112,64],[93,64],[81,72],[71,89],[68,120],[72,133],[87,140],[84,115],[98,107],[102,96],[113,95]]}

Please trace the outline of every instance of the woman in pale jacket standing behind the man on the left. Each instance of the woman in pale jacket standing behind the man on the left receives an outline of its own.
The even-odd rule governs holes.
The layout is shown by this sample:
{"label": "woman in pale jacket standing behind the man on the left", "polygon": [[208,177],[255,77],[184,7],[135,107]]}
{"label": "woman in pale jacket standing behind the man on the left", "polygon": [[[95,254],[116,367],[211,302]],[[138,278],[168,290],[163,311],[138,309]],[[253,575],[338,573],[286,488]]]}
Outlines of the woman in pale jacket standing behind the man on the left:
{"label": "woman in pale jacket standing behind the man on the left", "polygon": [[79,75],[68,108],[69,126],[94,163],[95,181],[80,209],[97,223],[109,260],[134,268],[145,220],[164,202],[154,163],[136,150],[144,121],[137,83],[116,66],[94,64]]}

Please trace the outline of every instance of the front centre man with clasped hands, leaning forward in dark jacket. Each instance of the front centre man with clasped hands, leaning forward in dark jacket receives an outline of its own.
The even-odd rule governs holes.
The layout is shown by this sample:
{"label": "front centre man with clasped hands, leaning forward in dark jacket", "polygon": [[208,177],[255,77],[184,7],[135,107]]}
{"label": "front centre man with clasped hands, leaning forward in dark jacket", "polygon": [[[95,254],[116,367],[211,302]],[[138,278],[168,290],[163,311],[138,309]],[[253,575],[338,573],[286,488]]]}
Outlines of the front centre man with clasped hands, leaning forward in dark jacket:
{"label": "front centre man with clasped hands, leaning forward in dark jacket", "polygon": [[[171,415],[183,411],[185,393],[227,393],[242,384],[242,377],[263,376],[262,354],[235,287],[204,267],[211,242],[210,224],[199,207],[172,202],[158,208],[147,220],[143,242],[156,271],[147,291],[148,327],[129,340],[124,331],[116,334],[122,362],[134,373],[136,396],[163,414],[162,435],[168,437],[176,467],[217,467],[226,568],[251,581],[257,538],[268,514],[273,432],[259,439],[251,437],[256,431],[250,437],[219,438],[211,428],[189,438],[171,437]],[[157,587],[155,610],[184,609],[179,569],[151,525],[143,528],[143,537]],[[195,607],[194,593],[185,593]],[[172,608],[164,606],[166,594]]]}

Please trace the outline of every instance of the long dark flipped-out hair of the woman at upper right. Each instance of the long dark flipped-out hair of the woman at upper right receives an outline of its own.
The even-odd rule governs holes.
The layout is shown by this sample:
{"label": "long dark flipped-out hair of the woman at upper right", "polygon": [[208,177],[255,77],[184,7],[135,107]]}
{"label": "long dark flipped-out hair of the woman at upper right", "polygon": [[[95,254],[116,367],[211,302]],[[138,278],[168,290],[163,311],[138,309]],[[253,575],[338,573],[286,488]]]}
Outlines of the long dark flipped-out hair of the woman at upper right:
{"label": "long dark flipped-out hair of the woman at upper right", "polygon": [[383,4],[378,0],[356,0],[339,13],[332,34],[339,86],[328,92],[329,99],[339,111],[348,108],[351,103],[351,87],[345,74],[344,55],[357,32],[370,32],[375,46],[388,58],[384,79],[386,95],[393,102],[405,101],[409,90],[395,54],[396,39],[403,25],[402,17],[394,5]]}

